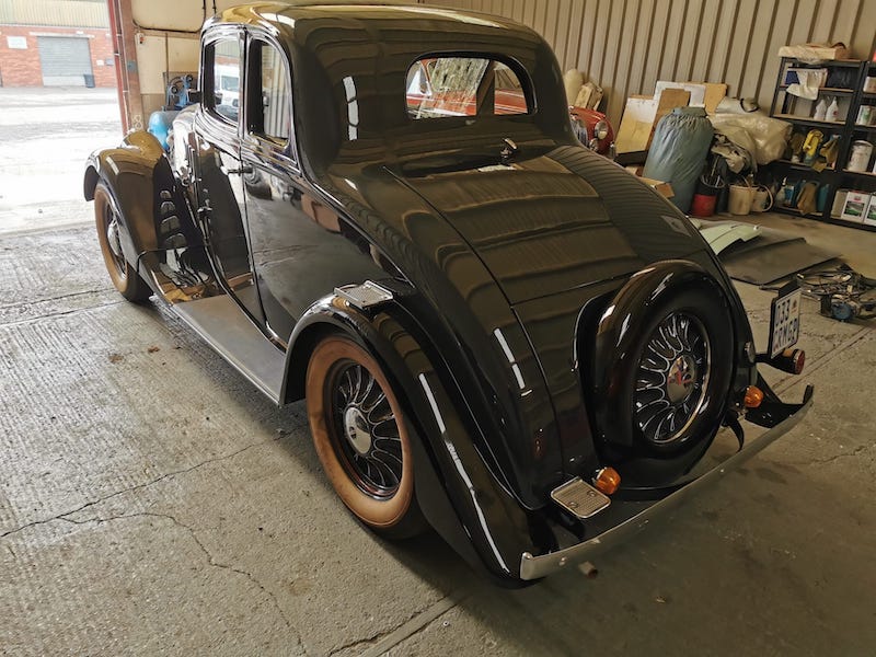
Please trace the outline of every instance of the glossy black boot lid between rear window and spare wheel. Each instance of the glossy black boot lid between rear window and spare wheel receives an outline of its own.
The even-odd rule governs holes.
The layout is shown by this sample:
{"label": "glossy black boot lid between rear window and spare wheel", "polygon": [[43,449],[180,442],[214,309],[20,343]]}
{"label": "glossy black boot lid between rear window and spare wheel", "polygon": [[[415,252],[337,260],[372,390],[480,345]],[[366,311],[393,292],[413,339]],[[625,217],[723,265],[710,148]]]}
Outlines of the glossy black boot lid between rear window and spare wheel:
{"label": "glossy black boot lid between rear window and spare wheel", "polygon": [[396,175],[462,235],[511,304],[626,276],[704,245],[666,199],[580,148],[436,169],[419,162]]}

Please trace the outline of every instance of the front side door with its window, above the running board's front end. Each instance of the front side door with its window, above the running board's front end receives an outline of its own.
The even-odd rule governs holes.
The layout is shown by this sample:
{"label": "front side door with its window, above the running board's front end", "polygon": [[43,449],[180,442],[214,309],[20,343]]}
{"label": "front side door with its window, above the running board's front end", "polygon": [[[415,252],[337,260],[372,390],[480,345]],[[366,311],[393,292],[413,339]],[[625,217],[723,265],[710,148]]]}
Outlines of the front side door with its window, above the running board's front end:
{"label": "front side door with its window, above the running board's front end", "polygon": [[205,37],[204,99],[195,119],[197,205],[207,250],[223,286],[250,316],[264,323],[246,233],[244,178],[251,170],[241,163],[240,136],[243,101],[233,80],[244,80],[245,33],[222,26]]}

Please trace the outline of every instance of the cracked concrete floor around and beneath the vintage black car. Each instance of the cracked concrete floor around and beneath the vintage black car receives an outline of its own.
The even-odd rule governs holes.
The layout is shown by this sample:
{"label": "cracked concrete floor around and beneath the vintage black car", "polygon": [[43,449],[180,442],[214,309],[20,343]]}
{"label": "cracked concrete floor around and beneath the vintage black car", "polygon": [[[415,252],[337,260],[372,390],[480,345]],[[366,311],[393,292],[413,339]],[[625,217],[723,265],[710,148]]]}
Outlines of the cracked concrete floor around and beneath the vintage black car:
{"label": "cracked concrete floor around and beneath the vintage black car", "polygon": [[[789,399],[817,387],[794,433],[597,579],[497,589],[434,535],[362,530],[301,404],[273,407],[157,303],[112,290],[77,194],[85,152],[117,139],[115,99],[77,93],[0,89],[1,654],[874,653],[872,325],[806,301],[807,373],[773,378]],[[45,168],[56,184],[25,195]],[[876,275],[876,234],[788,226]],[[740,291],[762,346],[771,296]]]}

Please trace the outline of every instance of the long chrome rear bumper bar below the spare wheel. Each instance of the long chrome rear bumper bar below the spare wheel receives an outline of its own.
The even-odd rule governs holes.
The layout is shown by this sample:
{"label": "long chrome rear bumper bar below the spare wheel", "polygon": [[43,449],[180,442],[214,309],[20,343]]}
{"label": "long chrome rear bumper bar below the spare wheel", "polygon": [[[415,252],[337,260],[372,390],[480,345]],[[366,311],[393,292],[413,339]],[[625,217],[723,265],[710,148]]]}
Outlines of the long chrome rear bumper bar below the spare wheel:
{"label": "long chrome rear bumper bar below the spare wheel", "polygon": [[649,522],[677,507],[679,503],[694,492],[714,484],[725,474],[738,468],[762,449],[774,442],[780,436],[794,428],[804,418],[811,405],[812,400],[811,396],[809,396],[794,415],[788,416],[787,419],[781,424],[775,425],[773,428],[761,434],[758,438],[754,438],[745,448],[726,459],[719,465],[716,465],[676,493],[656,502],[641,514],[602,532],[598,537],[593,537],[577,545],[540,556],[533,556],[531,553],[525,552],[520,557],[520,579],[539,579],[561,569],[563,566],[589,561],[595,555],[629,541],[632,535],[638,533]]}

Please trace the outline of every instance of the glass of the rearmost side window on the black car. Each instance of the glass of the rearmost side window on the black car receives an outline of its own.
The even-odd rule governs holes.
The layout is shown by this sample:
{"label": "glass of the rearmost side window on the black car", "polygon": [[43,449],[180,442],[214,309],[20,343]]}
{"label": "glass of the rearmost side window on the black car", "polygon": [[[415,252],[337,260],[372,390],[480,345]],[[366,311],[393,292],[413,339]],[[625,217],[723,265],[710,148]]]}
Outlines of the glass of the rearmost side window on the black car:
{"label": "glass of the rearmost side window on the black car", "polygon": [[286,59],[277,48],[254,41],[250,48],[250,126],[252,134],[277,143],[289,140],[291,100]]}

